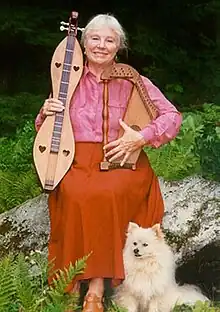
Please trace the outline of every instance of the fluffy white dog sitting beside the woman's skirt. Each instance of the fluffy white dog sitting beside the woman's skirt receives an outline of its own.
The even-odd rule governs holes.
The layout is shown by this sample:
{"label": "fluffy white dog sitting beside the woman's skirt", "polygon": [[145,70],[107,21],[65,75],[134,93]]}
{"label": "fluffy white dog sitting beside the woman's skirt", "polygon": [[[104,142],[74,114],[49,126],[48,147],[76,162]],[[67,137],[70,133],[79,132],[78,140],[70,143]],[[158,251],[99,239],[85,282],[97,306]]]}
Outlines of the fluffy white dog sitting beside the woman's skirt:
{"label": "fluffy white dog sitting beside the woman's skirt", "polygon": [[128,312],[170,312],[176,304],[209,301],[196,286],[177,285],[174,255],[159,224],[145,229],[129,223],[124,267],[114,300]]}

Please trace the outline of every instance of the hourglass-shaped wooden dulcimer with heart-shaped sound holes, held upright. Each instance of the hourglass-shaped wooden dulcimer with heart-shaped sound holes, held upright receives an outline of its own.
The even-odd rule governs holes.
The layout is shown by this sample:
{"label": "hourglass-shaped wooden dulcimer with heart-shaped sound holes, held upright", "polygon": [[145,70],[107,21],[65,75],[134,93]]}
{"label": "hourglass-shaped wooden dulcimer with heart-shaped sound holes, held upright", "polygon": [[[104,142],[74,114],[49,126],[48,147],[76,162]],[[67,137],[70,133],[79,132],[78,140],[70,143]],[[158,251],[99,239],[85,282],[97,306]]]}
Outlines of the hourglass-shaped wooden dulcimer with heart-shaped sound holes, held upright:
{"label": "hourglass-shaped wooden dulcimer with heart-shaped sound holes, held upright", "polygon": [[82,76],[83,54],[77,41],[78,13],[72,12],[68,35],[59,43],[51,60],[52,97],[59,99],[64,110],[47,116],[33,146],[33,158],[44,190],[51,191],[70,168],[75,154],[75,141],[70,121],[69,105]]}

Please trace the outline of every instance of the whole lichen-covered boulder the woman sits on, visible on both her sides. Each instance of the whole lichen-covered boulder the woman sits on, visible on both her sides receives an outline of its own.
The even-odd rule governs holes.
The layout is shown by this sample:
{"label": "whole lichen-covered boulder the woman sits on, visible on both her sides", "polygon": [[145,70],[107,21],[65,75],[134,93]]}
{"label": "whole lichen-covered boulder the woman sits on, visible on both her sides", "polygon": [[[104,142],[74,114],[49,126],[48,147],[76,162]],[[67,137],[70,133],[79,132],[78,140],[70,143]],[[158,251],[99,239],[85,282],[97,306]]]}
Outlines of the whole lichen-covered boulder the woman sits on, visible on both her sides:
{"label": "whole lichen-covered boulder the woman sits on, visible on both her sides", "polygon": [[[201,177],[160,179],[165,202],[163,228],[173,247],[180,282],[196,283],[220,299],[220,183]],[[42,194],[0,215],[0,257],[9,251],[47,253],[49,217]]]}

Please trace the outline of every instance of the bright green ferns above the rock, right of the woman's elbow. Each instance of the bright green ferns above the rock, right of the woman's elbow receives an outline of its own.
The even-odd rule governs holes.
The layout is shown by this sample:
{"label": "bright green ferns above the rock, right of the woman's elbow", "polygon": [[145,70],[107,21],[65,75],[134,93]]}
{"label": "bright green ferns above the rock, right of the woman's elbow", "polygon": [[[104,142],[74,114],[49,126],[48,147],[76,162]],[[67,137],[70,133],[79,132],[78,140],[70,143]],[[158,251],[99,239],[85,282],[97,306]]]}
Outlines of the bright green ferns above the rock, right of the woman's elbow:
{"label": "bright green ferns above the rock, right of the woman's elbow", "polygon": [[146,148],[158,176],[179,180],[194,174],[219,181],[220,107],[204,104],[203,110],[184,113],[178,136],[159,149]]}

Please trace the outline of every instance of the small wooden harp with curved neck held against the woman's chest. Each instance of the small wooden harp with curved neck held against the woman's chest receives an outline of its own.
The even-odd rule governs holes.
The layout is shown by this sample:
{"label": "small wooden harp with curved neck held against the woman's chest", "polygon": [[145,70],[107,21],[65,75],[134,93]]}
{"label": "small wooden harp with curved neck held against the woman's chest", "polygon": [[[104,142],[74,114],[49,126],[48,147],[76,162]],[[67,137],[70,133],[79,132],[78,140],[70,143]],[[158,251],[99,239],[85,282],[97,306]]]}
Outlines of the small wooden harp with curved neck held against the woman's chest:
{"label": "small wooden harp with curved neck held against the woman's chest", "polygon": [[[123,116],[123,121],[136,131],[142,130],[157,115],[157,108],[151,101],[147,89],[143,83],[140,74],[130,65],[123,63],[115,63],[108,67],[101,75],[104,81],[104,105],[103,105],[103,136],[104,145],[108,143],[108,82],[112,79],[126,79],[132,83],[131,94],[127,103],[127,109]],[[120,129],[120,138],[124,134],[124,130]],[[104,157],[100,164],[101,170],[109,170],[116,168],[136,169],[136,162],[140,155],[141,149],[136,150],[127,160],[123,167],[120,166],[120,159],[108,162]]]}

